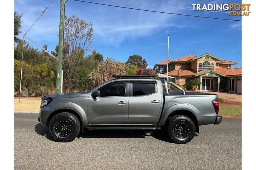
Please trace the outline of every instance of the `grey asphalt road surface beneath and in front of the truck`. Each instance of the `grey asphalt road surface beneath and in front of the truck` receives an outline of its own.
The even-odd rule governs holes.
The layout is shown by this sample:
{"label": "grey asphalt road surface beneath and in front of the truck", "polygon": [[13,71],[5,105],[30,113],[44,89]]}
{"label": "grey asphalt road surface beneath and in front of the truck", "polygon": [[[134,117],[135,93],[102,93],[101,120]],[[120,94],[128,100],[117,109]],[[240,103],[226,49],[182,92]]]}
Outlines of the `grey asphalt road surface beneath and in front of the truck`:
{"label": "grey asphalt road surface beneath and in front of the truck", "polygon": [[57,143],[37,118],[14,114],[15,169],[241,169],[241,118],[201,126],[185,145],[146,131],[86,131]]}

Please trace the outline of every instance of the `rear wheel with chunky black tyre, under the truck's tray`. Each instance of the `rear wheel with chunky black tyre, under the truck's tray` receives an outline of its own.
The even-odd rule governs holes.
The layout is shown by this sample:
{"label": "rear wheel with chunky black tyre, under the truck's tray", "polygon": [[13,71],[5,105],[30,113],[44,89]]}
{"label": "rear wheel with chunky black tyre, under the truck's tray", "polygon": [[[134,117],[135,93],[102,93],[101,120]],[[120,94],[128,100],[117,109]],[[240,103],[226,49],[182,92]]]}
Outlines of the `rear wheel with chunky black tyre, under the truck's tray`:
{"label": "rear wheel with chunky black tyre, under the truck's tray", "polygon": [[173,143],[185,144],[191,141],[196,133],[194,122],[185,115],[174,115],[167,124],[167,136]]}

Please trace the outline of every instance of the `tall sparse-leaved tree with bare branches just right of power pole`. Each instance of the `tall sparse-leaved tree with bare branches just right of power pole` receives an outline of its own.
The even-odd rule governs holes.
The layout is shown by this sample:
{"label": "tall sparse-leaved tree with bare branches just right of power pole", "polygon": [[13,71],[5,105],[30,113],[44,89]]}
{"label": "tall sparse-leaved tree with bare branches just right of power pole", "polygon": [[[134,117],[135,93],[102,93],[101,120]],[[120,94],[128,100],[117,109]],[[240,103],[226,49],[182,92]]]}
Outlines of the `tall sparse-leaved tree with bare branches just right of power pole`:
{"label": "tall sparse-leaved tree with bare branches just right of power pole", "polygon": [[91,51],[93,29],[92,23],[76,16],[65,16],[63,56],[64,92],[70,92],[74,86],[74,74],[81,66],[84,55]]}

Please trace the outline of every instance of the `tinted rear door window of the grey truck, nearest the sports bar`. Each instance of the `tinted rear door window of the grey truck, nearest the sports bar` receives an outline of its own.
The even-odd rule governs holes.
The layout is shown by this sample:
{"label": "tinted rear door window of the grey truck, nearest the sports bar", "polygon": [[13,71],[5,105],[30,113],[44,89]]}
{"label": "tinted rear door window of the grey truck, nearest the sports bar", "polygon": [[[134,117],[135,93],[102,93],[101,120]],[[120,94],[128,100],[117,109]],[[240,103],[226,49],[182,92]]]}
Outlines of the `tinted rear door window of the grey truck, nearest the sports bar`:
{"label": "tinted rear door window of the grey truck, nearest the sports bar", "polygon": [[132,96],[145,96],[156,92],[155,83],[133,83]]}

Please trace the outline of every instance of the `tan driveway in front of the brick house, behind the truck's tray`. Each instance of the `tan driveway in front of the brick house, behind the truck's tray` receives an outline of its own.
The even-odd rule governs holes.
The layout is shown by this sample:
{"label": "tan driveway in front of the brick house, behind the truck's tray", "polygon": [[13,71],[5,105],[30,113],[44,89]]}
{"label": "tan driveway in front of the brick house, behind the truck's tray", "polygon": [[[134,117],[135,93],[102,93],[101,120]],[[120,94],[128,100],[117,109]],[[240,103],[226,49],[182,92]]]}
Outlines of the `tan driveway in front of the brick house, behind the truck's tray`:
{"label": "tan driveway in front of the brick house, behind the truck's tray", "polygon": [[228,92],[203,92],[203,93],[211,93],[211,94],[218,94],[219,98],[223,98],[226,100],[225,104],[233,105],[233,106],[242,106],[242,94],[238,93],[228,93]]}

